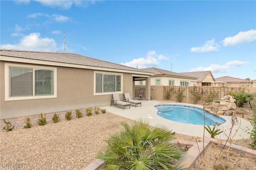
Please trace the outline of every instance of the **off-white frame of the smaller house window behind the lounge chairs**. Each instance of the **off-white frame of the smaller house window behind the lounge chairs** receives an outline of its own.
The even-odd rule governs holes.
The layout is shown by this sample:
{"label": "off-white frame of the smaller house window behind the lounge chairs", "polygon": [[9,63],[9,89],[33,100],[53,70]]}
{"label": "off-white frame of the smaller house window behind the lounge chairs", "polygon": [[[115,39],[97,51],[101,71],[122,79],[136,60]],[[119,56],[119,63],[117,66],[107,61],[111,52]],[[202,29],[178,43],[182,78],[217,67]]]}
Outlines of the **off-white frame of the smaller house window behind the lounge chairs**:
{"label": "off-white frame of the smaller house window behind the lounge chairs", "polygon": [[[96,74],[112,74],[112,75],[116,75],[116,76],[121,76],[120,77],[120,92],[103,92],[102,93],[96,93]],[[102,82],[103,83],[103,82]],[[122,73],[117,73],[117,72],[104,72],[104,71],[94,71],[94,83],[93,83],[93,89],[94,89],[94,96],[98,96],[98,95],[109,95],[109,94],[113,94],[113,93],[123,93],[123,74]]]}

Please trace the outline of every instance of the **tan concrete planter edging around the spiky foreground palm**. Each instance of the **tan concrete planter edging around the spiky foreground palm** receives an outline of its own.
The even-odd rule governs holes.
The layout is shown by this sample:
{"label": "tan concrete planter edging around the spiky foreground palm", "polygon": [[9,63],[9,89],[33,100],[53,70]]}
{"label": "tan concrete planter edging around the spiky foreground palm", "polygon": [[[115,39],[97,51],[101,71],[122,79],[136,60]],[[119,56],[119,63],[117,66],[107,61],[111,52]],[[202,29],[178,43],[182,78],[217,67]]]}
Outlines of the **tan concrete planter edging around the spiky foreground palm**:
{"label": "tan concrete planter edging around the spiky foreground palm", "polygon": [[[193,144],[192,147],[190,147],[190,149],[188,149],[188,151],[184,155],[184,157],[182,157],[178,160],[178,162],[180,163],[179,166],[183,166],[183,168],[192,168],[194,166],[196,160],[199,158],[200,154],[202,154],[203,150],[206,149],[211,143],[217,144],[220,147],[225,146],[225,148],[228,148],[230,146],[230,143],[226,143],[226,142],[220,143],[220,140],[210,138],[210,137],[201,138],[198,141],[198,143],[195,143],[192,141],[184,141],[184,140],[178,140],[178,142],[181,145],[192,145]],[[225,145],[225,143],[226,143],[226,145]],[[256,150],[248,149],[245,147],[240,147],[240,146],[234,145],[234,144],[231,144],[230,149],[256,158]],[[104,164],[104,161],[96,159],[93,162],[91,162],[90,164],[88,164],[82,170],[98,170],[103,164]]]}

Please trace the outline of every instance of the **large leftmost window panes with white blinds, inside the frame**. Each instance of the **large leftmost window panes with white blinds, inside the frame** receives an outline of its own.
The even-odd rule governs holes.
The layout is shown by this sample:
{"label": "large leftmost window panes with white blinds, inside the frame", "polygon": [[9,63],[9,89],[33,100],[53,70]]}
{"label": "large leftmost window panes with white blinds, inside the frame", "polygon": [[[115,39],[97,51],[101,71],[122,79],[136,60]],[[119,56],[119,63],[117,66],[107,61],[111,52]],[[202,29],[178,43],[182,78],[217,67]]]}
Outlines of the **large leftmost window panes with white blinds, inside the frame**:
{"label": "large leftmost window panes with white blinds, inside the frame", "polygon": [[9,69],[10,97],[54,95],[53,70],[22,67]]}

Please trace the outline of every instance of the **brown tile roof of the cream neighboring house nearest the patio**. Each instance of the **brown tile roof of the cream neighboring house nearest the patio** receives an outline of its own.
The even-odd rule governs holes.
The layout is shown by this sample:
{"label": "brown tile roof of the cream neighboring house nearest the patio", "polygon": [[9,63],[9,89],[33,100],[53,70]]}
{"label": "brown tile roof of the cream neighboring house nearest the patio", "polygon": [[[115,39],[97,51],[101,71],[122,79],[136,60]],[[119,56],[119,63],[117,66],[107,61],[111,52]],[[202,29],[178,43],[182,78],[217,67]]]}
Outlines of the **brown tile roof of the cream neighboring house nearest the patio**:
{"label": "brown tile roof of the cream neighboring house nearest the patio", "polygon": [[156,76],[156,75],[163,75],[164,74],[166,76],[174,76],[174,77],[183,77],[183,78],[197,79],[195,76],[188,76],[188,75],[185,75],[185,74],[180,74],[180,73],[176,73],[176,72],[172,72],[172,71],[168,71],[168,70],[162,70],[160,68],[155,68],[155,67],[142,68],[142,70],[153,72],[154,76]]}

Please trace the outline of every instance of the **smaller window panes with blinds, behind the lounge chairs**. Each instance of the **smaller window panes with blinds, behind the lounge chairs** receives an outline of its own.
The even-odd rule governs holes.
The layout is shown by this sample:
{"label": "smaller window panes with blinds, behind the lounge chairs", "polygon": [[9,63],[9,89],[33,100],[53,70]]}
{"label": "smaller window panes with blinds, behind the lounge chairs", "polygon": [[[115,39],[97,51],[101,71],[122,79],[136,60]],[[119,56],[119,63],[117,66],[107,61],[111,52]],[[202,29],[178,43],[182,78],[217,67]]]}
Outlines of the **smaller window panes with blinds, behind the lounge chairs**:
{"label": "smaller window panes with blinds, behind the lounge chairs", "polygon": [[96,93],[121,92],[121,75],[96,73]]}

